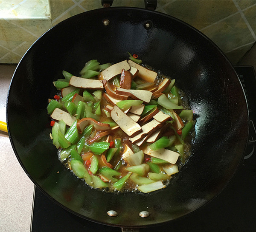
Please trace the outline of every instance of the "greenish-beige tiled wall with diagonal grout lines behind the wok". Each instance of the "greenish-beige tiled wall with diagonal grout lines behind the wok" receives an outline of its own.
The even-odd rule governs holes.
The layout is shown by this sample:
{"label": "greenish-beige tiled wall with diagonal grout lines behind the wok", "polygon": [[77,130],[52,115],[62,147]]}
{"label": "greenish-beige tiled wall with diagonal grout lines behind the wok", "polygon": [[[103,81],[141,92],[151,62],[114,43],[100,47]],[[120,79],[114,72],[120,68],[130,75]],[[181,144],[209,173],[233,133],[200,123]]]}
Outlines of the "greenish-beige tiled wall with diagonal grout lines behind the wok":
{"label": "greenish-beige tiled wall with diagonal grout lines behind the wok", "polygon": [[[144,8],[144,0],[114,0],[112,6]],[[101,0],[0,1],[0,63],[17,63],[52,25],[96,8]],[[156,11],[198,28],[233,64],[256,41],[256,0],[158,0]]]}

